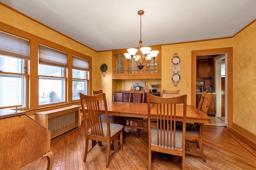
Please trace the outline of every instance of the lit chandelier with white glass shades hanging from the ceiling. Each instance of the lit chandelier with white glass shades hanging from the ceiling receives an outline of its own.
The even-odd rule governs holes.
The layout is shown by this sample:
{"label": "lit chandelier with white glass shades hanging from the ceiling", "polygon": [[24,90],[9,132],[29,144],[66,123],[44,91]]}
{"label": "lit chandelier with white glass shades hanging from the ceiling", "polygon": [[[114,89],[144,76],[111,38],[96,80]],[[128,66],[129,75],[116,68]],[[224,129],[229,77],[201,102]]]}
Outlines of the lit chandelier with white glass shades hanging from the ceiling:
{"label": "lit chandelier with white glass shades hanging from the ceiling", "polygon": [[143,43],[141,40],[141,16],[144,14],[144,11],[138,11],[138,15],[140,15],[140,41],[139,41],[139,48],[131,48],[127,49],[128,53],[124,53],[127,61],[131,62],[132,64],[136,65],[138,69],[142,69],[144,65],[148,64],[150,61],[156,59],[157,54],[159,51],[151,50],[150,47],[143,47]]}

